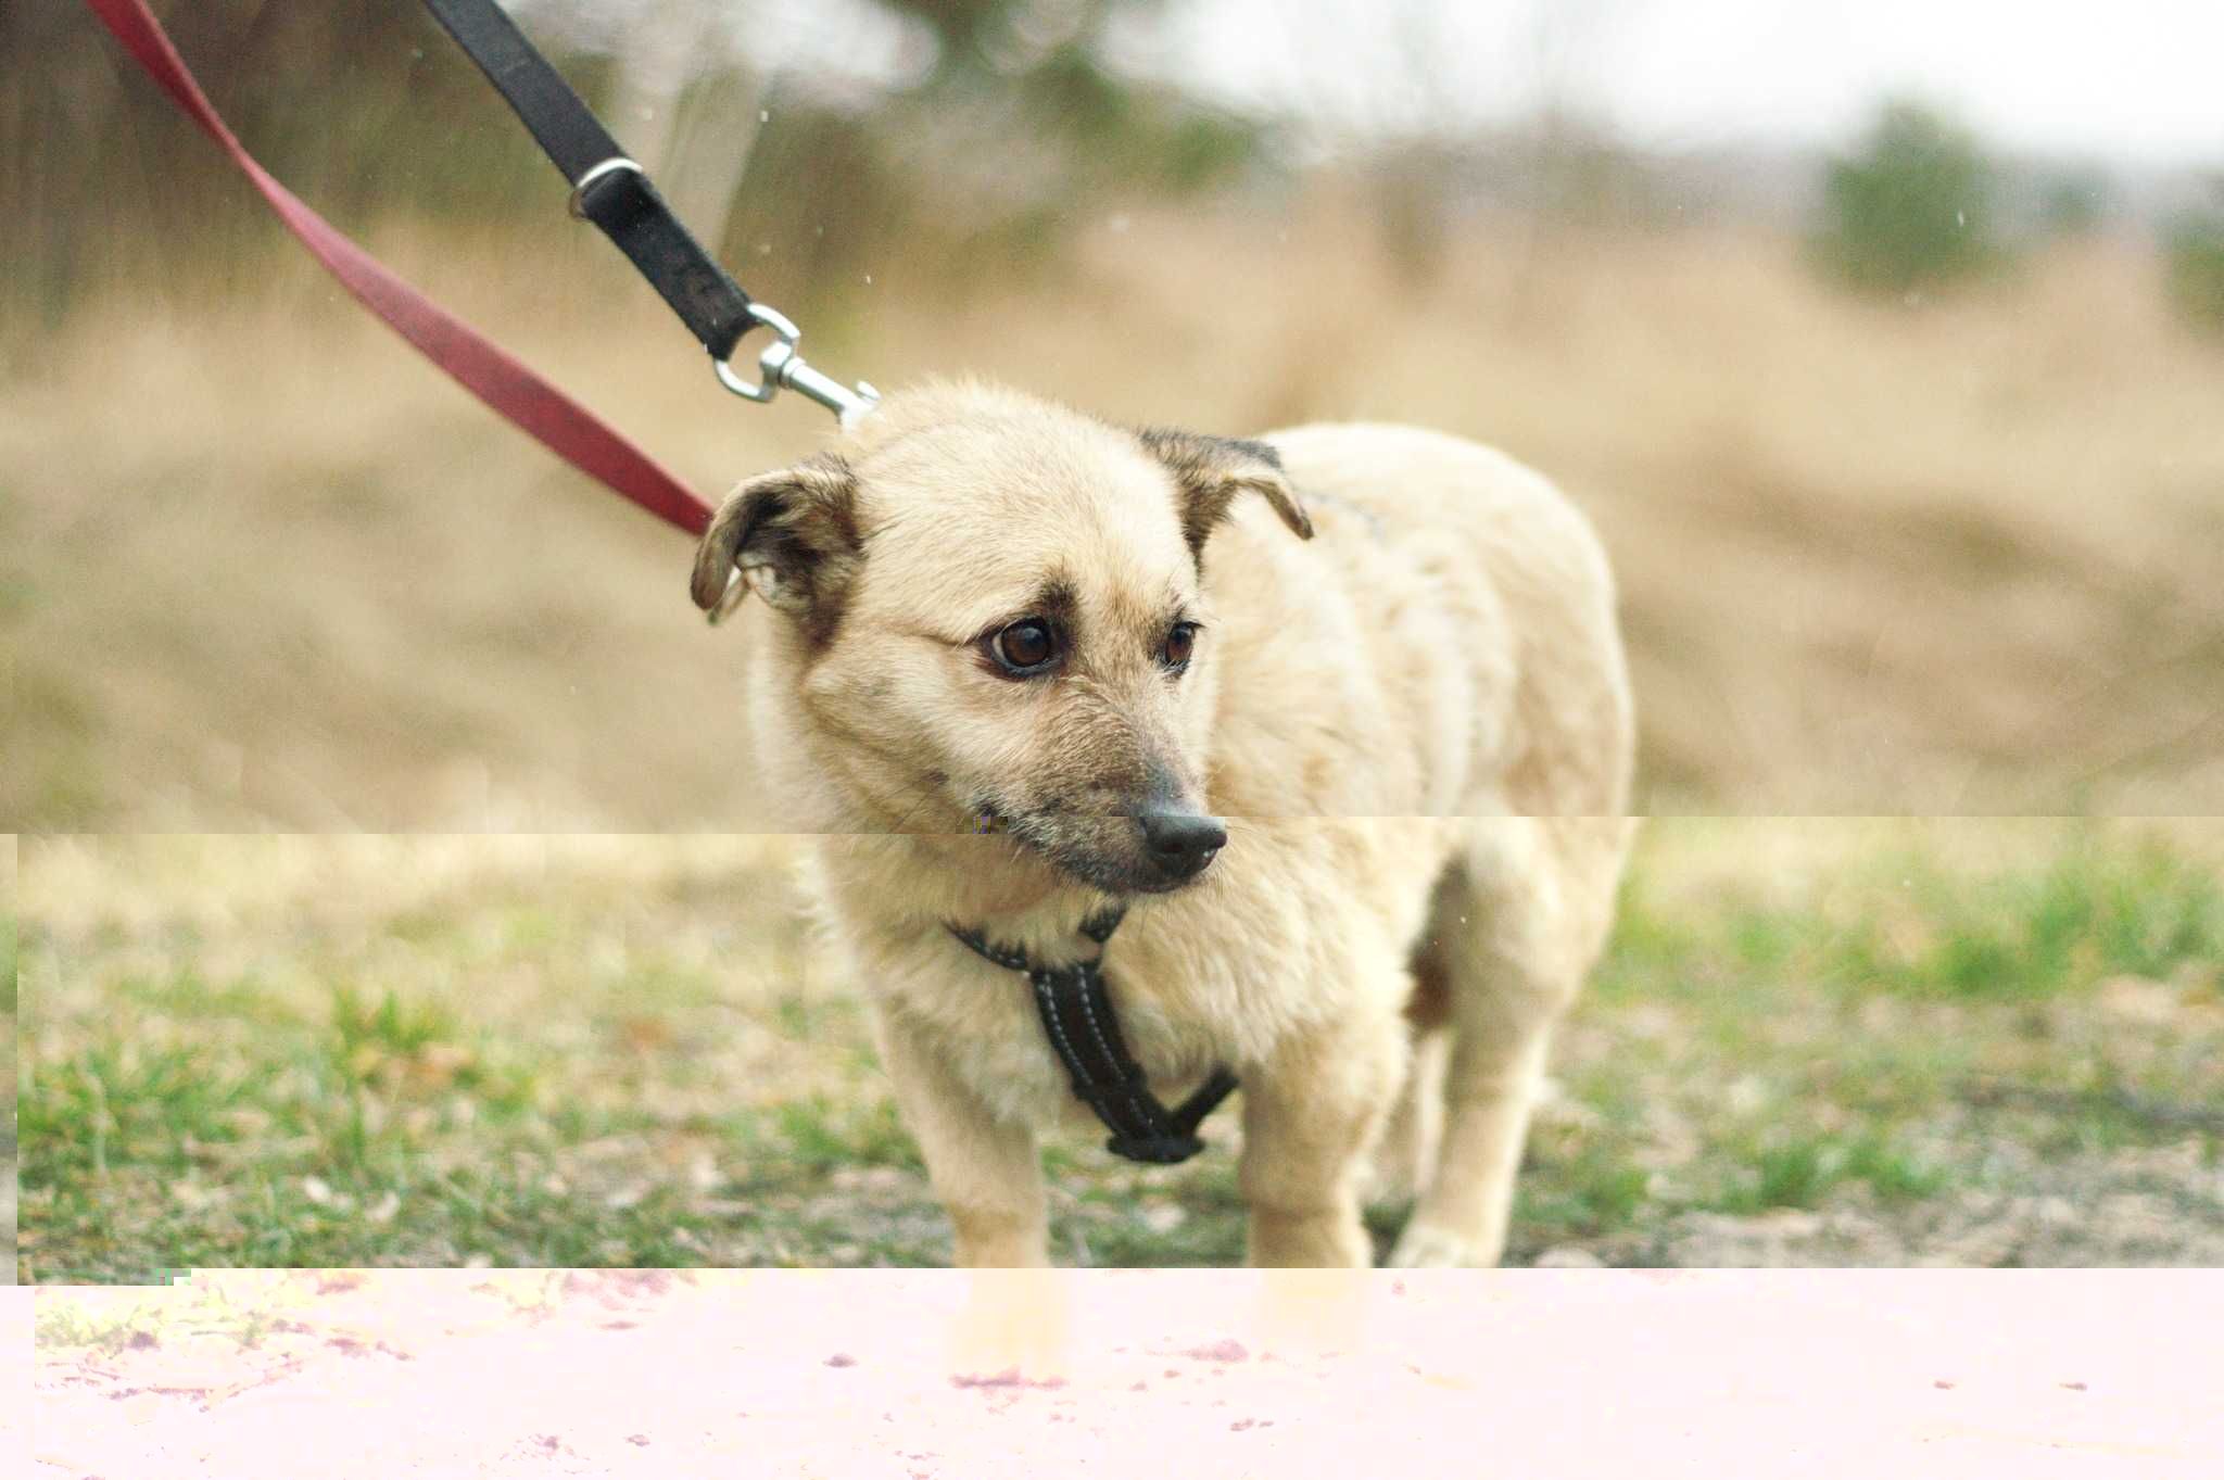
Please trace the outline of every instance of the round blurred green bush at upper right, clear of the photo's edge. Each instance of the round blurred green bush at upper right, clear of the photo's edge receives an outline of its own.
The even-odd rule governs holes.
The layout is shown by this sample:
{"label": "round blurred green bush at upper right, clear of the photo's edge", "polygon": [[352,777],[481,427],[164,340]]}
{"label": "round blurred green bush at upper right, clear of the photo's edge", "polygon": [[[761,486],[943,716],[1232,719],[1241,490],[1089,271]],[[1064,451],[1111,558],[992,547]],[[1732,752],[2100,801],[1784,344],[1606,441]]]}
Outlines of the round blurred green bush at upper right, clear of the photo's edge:
{"label": "round blurred green bush at upper right, clear of the photo's edge", "polygon": [[1821,262],[1861,289],[1904,293],[1999,260],[1995,167],[1975,136],[1919,102],[1890,102],[1824,176]]}

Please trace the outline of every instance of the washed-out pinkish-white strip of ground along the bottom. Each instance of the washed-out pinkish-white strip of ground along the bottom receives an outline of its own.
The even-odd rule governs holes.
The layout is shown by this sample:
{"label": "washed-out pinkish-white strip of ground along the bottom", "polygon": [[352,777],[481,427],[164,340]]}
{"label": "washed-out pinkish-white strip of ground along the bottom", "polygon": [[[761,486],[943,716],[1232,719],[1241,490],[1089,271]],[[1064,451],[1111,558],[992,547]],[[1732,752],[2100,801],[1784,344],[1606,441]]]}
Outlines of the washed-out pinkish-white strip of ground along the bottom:
{"label": "washed-out pinkish-white strip of ground along the bottom", "polygon": [[[2224,1322],[2217,1273],[609,1273],[523,1293],[520,1278],[296,1276],[314,1289],[251,1347],[207,1311],[269,1302],[271,1276],[40,1291],[29,1473],[2224,1467],[2215,1373],[2184,1360]],[[107,1340],[85,1344],[102,1320]]]}

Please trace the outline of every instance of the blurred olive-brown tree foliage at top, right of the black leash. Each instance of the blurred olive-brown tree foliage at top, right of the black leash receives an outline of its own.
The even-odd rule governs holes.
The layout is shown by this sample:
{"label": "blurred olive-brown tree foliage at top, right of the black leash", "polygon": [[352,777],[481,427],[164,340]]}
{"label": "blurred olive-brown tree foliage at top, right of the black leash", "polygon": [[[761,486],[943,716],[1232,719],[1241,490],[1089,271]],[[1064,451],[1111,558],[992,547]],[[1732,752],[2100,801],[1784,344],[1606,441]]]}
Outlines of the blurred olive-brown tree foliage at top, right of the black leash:
{"label": "blurred olive-brown tree foliage at top, right of the black leash", "polygon": [[[932,62],[865,107],[767,82],[772,120],[723,233],[767,293],[821,311],[892,260],[947,291],[1052,260],[1090,211],[1183,198],[1270,158],[1268,129],[1110,64],[1108,31],[1163,0],[876,0]],[[947,271],[941,271],[947,269]]]}

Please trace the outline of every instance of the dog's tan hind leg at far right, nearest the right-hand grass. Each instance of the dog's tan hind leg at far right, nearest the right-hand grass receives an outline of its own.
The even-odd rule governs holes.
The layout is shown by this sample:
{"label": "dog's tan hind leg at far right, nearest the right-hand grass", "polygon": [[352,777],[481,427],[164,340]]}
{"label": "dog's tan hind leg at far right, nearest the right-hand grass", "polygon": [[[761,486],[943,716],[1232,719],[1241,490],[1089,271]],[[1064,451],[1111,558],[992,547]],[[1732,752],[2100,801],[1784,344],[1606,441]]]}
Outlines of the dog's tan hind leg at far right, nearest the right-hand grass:
{"label": "dog's tan hind leg at far right, nearest the right-hand grass", "polygon": [[1604,944],[1626,847],[1621,818],[1492,818],[1439,889],[1417,976],[1446,982],[1446,1129],[1392,1264],[1497,1264],[1506,1251],[1552,1029]]}

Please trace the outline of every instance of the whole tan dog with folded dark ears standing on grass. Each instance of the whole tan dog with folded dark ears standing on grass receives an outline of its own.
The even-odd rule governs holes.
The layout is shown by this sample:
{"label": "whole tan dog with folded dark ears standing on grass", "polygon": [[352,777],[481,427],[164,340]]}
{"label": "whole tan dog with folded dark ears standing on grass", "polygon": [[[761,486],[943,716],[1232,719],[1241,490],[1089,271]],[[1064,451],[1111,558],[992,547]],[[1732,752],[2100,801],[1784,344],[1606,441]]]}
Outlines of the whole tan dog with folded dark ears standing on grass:
{"label": "whole tan dog with folded dark ears standing on grass", "polygon": [[1370,1262],[1370,1153],[1419,1191],[1392,1262],[1497,1262],[1632,827],[1612,580],[1543,478],[943,384],[736,489],[696,602],[736,564],[756,760],[961,1264],[1045,1260],[1034,1133],[1088,1111],[947,927],[1056,964],[1108,900],[1154,1089],[1241,1078],[1252,1262]]}

